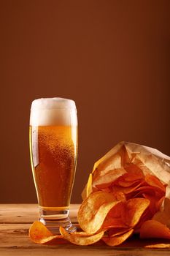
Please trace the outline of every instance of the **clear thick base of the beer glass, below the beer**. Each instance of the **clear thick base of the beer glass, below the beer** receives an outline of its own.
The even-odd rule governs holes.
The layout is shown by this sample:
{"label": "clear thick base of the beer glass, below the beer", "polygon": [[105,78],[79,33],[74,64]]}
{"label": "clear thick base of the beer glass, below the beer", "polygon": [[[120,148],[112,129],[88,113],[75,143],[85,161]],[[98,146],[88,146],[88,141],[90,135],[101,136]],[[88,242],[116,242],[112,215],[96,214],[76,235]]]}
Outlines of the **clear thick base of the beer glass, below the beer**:
{"label": "clear thick base of the beer glass, below the beer", "polygon": [[69,218],[69,210],[45,210],[39,207],[40,218],[39,221],[44,224],[48,230],[54,235],[60,234],[60,226],[64,227],[69,233],[77,230]]}

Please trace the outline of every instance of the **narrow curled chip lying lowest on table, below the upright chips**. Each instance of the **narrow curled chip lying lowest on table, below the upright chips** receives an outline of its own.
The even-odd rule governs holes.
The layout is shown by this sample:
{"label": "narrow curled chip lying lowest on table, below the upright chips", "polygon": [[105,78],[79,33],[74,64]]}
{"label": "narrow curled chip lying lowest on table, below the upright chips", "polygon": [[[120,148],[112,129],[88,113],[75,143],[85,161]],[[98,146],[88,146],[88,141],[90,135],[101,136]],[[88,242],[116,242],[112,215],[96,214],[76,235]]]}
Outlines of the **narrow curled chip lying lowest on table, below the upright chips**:
{"label": "narrow curled chip lying lowest on table, below the upright chips", "polygon": [[129,230],[126,233],[123,233],[120,236],[114,236],[114,237],[104,237],[102,238],[102,240],[104,241],[105,244],[109,245],[109,246],[117,246],[119,244],[122,244],[123,241],[125,241],[126,239],[128,239],[132,233],[134,232],[133,229]]}

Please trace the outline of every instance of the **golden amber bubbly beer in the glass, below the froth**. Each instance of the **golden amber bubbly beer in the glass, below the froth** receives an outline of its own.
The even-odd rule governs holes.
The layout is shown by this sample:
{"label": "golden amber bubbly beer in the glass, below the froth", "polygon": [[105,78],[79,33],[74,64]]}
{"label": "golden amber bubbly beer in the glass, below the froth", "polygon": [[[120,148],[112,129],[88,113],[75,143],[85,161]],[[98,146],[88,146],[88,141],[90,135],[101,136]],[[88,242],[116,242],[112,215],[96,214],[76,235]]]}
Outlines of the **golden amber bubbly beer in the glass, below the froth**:
{"label": "golden amber bubbly beer in the glass, below the froth", "polygon": [[[37,143],[33,148],[39,148],[39,164],[33,165],[33,175],[43,208],[69,207],[77,147],[72,129],[77,127],[30,127],[31,145]],[[34,141],[32,134],[36,132],[38,140]]]}

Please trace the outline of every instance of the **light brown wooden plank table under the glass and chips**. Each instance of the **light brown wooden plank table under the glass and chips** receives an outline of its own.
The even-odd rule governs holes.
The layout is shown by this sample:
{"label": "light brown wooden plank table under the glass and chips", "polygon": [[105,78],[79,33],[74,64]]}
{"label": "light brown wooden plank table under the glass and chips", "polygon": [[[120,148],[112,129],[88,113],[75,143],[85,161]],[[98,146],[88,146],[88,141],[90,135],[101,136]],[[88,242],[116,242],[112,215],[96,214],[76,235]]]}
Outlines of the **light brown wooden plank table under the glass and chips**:
{"label": "light brown wooden plank table under the glass and chips", "polygon": [[[72,205],[70,211],[72,222],[75,224],[77,223],[78,207],[79,205]],[[69,243],[56,246],[34,244],[28,237],[28,228],[37,219],[38,208],[35,204],[1,204],[0,255],[170,255],[170,249],[145,249],[144,245],[148,244],[148,241],[139,241],[139,238],[131,238],[117,247],[110,247],[105,244],[92,246],[75,246]],[[149,244],[152,244],[152,241]]]}

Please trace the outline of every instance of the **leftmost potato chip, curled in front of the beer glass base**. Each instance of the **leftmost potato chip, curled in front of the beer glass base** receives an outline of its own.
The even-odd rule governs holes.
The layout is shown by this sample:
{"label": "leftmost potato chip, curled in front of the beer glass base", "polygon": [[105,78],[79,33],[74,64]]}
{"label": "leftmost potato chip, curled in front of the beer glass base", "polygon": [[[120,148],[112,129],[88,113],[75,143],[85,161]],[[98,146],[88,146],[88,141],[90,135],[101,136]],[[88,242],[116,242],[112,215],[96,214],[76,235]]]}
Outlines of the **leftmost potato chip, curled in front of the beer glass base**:
{"label": "leftmost potato chip, curled in front of the beer glass base", "polygon": [[66,244],[63,236],[54,236],[42,222],[34,222],[29,229],[29,236],[36,244]]}

